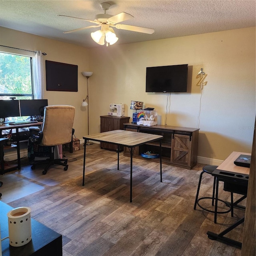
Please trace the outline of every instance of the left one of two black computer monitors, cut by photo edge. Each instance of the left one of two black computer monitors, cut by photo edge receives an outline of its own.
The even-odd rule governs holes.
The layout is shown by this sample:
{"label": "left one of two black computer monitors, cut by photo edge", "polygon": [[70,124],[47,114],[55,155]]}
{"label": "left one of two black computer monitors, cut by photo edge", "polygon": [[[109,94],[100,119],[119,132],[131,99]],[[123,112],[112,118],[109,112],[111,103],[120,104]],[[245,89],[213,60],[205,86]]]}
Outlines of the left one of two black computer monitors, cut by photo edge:
{"label": "left one of two black computer monitors, cut by photo edge", "polygon": [[20,116],[18,100],[0,100],[0,118]]}

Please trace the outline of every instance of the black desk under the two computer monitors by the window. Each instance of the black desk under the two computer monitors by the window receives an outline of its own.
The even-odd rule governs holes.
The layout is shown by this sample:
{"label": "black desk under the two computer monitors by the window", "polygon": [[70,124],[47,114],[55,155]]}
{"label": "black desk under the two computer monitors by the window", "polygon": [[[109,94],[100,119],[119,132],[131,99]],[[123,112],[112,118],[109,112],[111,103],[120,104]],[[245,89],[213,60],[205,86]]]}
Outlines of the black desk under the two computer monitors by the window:
{"label": "black desk under the two computer monitors by the window", "polygon": [[[19,136],[19,128],[31,127],[31,126],[41,126],[42,122],[32,123],[32,124],[18,124],[18,125],[10,125],[4,124],[0,126],[0,137],[2,137],[2,130],[16,129],[16,138],[17,138],[17,166],[13,168],[9,168],[8,170],[20,170],[20,136]],[[2,163],[3,164],[3,163]],[[3,166],[1,166],[1,170],[3,171]]]}

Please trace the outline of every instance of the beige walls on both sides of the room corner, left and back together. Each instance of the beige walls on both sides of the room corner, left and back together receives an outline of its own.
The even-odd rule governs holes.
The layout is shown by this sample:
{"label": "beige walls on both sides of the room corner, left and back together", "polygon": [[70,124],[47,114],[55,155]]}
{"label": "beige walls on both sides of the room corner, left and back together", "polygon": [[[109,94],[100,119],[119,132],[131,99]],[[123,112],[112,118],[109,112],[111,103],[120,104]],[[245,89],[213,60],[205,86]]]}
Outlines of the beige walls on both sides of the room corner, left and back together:
{"label": "beige walls on both sides of the room corner, left and back together", "polygon": [[[199,127],[198,160],[202,163],[218,163],[232,151],[251,151],[256,112],[255,27],[92,49],[6,28],[0,28],[0,33],[1,45],[41,50],[47,53],[44,60],[78,65],[78,92],[44,94],[49,104],[76,107],[77,138],[87,134],[87,112],[80,107],[86,78],[81,72],[92,71],[90,134],[100,132],[100,116],[107,114],[110,103],[124,103],[125,115],[132,119],[130,101],[139,100],[158,110],[162,124]],[[176,64],[189,65],[187,93],[168,97],[145,92],[147,66]],[[208,75],[202,96],[196,86],[201,68]]]}

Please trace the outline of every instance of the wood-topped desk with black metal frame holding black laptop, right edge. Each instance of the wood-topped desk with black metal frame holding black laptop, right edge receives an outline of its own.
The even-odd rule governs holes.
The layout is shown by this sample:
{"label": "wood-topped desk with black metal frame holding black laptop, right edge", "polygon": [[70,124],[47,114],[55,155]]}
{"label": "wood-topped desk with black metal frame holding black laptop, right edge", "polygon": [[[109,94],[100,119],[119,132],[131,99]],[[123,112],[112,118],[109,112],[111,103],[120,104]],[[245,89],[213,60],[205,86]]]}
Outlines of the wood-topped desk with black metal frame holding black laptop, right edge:
{"label": "wood-topped desk with black metal frame holding black laptop, right edge", "polygon": [[[238,190],[239,190],[240,186],[242,186],[244,188],[248,187],[248,180],[249,180],[249,173],[250,173],[250,168],[236,166],[234,164],[234,161],[236,160],[236,158],[238,158],[241,154],[248,155],[248,156],[251,155],[251,154],[244,153],[244,152],[234,151],[212,173],[212,175],[214,175],[216,177],[216,198],[218,198],[219,181],[224,182],[224,187],[225,187],[225,183],[228,184],[228,189],[229,189],[228,191],[230,191],[231,193],[233,193],[233,192],[238,193],[238,194],[244,193],[244,196],[242,198],[240,198],[239,200],[237,200],[234,203],[231,202],[231,204],[234,206],[237,206],[238,202],[241,202],[244,198],[246,198],[247,189],[245,192],[241,192],[241,193]],[[237,186],[237,185],[239,185],[239,186]],[[218,200],[215,200],[215,202],[216,202],[215,203],[215,212],[216,212],[217,207],[218,207]],[[217,215],[214,216],[215,223],[216,223],[216,216]],[[230,238],[226,238],[224,235],[227,234],[228,232],[230,232],[232,229],[236,228],[238,225],[242,224],[243,222],[244,222],[244,218],[238,220],[236,223],[234,223],[229,228],[226,228],[220,234],[215,234],[215,233],[208,231],[207,232],[208,238],[210,238],[212,240],[218,239],[218,240],[221,240],[224,242],[229,242],[229,243],[235,244],[236,246],[242,247],[242,243],[240,243],[236,240],[230,239]]]}

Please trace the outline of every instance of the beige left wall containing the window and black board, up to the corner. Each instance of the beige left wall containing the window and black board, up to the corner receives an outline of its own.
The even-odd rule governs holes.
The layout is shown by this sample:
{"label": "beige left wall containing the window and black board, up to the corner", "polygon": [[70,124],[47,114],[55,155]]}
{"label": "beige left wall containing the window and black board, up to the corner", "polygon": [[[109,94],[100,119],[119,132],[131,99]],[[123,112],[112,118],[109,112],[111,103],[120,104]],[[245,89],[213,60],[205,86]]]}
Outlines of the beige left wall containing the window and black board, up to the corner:
{"label": "beige left wall containing the window and black board, up to the corner", "polygon": [[[44,98],[48,99],[48,104],[51,105],[67,104],[74,106],[76,108],[74,120],[75,135],[77,138],[82,138],[83,135],[86,135],[87,110],[81,107],[81,103],[86,97],[87,89],[86,78],[81,72],[88,71],[88,49],[2,27],[0,27],[0,35],[1,45],[46,52],[47,55],[43,56],[44,63],[45,60],[51,60],[78,65],[78,92],[46,91],[44,77]],[[8,48],[2,47],[0,50],[8,50]],[[26,52],[23,51],[22,54],[26,54]]]}

